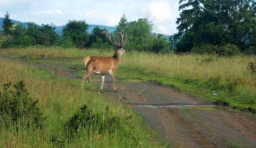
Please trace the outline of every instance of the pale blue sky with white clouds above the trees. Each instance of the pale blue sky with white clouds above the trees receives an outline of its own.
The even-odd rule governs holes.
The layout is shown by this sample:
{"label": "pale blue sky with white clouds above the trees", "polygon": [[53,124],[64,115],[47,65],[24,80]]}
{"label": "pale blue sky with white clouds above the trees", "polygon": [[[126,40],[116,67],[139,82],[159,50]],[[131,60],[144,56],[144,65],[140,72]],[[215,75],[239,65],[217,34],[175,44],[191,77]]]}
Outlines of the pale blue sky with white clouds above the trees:
{"label": "pale blue sky with white clouds above the trees", "polygon": [[115,27],[124,14],[127,22],[148,16],[154,32],[177,33],[179,0],[0,0],[0,17],[12,20],[63,26],[68,20]]}

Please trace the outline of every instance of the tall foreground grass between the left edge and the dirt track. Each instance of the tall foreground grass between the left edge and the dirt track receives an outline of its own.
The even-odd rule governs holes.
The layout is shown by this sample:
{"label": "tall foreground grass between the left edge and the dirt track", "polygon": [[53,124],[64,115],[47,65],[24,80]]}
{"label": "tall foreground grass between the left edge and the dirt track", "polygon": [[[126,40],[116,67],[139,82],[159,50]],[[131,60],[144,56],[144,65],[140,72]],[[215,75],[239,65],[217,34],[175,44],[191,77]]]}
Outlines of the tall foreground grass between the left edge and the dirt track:
{"label": "tall foreground grass between the left edge and the dirt track", "polygon": [[[81,90],[77,80],[60,78],[54,73],[22,66],[13,60],[0,61],[0,85],[24,80],[29,96],[38,100],[38,108],[47,117],[42,129],[24,129],[20,124],[8,128],[1,126],[0,147],[166,146],[157,142],[156,134],[143,126],[141,117],[122,105],[115,95],[106,98],[104,94],[86,91],[90,90],[89,87]],[[2,91],[3,87],[0,87]],[[77,129],[74,137],[68,137],[64,127],[84,105],[88,105],[90,114],[97,115],[99,121],[88,121],[87,126]],[[109,122],[108,119],[114,120]],[[118,125],[113,124],[115,119],[118,119]],[[4,122],[0,120],[0,125]],[[99,125],[103,125],[101,132]],[[112,127],[111,133],[108,132],[109,127]]]}

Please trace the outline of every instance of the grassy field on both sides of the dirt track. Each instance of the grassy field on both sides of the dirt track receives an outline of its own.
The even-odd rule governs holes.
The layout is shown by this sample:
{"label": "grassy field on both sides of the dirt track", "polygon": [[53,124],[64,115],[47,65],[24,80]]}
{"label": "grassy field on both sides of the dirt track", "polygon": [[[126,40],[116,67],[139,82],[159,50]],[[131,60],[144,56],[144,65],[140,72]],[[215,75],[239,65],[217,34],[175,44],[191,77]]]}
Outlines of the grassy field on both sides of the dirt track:
{"label": "grassy field on both sides of the dirt track", "polygon": [[[0,82],[24,80],[29,95],[42,108],[45,127],[22,129],[15,125],[1,128],[1,147],[167,147],[157,134],[146,128],[143,117],[120,101],[93,93],[89,85],[81,91],[79,80],[60,78],[37,68],[22,66],[19,60],[31,63],[60,63],[63,68],[84,70],[81,59],[86,56],[113,56],[114,50],[79,50],[61,48],[1,49]],[[68,59],[68,60],[65,60]],[[256,112],[255,56],[218,57],[196,54],[151,54],[128,52],[121,57],[116,77],[126,81],[152,81],[228,105],[237,110]],[[83,73],[77,73],[81,76]],[[3,91],[3,87],[0,87]],[[212,94],[218,94],[212,95]],[[87,105],[89,121],[76,126],[70,137],[65,127]],[[3,124],[1,120],[1,124]],[[69,122],[70,123],[70,122]],[[13,128],[15,127],[15,128]],[[89,128],[90,127],[90,128]],[[35,135],[35,136],[33,136]],[[71,134],[72,135],[72,134]],[[122,138],[120,138],[122,137]]]}

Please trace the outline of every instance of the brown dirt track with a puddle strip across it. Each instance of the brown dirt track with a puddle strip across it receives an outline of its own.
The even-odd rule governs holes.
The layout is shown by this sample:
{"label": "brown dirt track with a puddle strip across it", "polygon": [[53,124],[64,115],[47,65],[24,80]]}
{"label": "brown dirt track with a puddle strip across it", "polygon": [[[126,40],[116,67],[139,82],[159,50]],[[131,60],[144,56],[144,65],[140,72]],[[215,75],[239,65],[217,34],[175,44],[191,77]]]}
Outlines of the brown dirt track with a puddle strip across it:
{"label": "brown dirt track with a puddle strip across it", "polygon": [[[63,71],[58,69],[60,66],[33,66],[80,79],[74,75],[75,71]],[[99,78],[94,83],[101,83],[99,75],[94,77]],[[122,98],[174,147],[256,147],[255,115],[218,107],[161,84],[120,80],[116,86],[118,93],[113,93],[111,76],[106,76],[104,93]]]}

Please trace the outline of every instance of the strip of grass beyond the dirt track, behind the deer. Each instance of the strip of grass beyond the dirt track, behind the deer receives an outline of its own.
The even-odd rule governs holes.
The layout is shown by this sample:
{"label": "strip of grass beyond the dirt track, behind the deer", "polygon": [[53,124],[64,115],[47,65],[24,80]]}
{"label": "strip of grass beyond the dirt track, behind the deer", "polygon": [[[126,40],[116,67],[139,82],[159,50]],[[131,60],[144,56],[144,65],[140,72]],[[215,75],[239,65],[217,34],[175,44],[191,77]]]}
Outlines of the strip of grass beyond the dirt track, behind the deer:
{"label": "strip of grass beyond the dirt track, behind the deer", "polygon": [[[58,63],[66,68],[78,70],[84,70],[81,63],[85,56],[113,56],[113,54],[114,50],[34,47],[7,49],[1,52],[5,57],[26,57],[42,63],[54,62],[56,58],[63,59]],[[205,100],[256,113],[255,71],[256,56],[163,55],[132,51],[122,56],[116,77],[133,82],[150,80]],[[212,95],[213,93],[218,96]]]}

